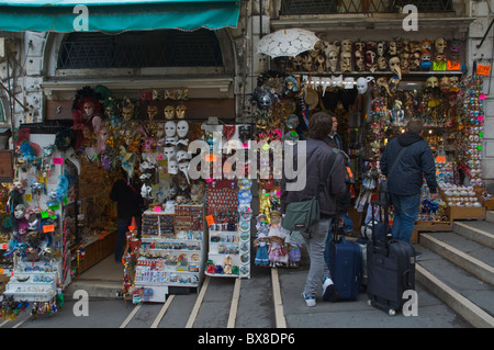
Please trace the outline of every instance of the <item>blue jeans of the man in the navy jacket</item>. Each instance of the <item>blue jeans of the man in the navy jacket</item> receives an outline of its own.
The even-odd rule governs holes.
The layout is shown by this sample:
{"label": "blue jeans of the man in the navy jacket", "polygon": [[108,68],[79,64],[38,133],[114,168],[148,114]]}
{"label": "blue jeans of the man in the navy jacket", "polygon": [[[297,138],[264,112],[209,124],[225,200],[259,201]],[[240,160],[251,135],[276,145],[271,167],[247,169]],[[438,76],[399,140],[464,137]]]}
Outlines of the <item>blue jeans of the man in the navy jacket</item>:
{"label": "blue jeans of the man in the navy jacket", "polygon": [[415,218],[420,207],[420,193],[400,195],[390,193],[391,204],[394,206],[394,219],[391,228],[393,238],[412,244],[412,232]]}

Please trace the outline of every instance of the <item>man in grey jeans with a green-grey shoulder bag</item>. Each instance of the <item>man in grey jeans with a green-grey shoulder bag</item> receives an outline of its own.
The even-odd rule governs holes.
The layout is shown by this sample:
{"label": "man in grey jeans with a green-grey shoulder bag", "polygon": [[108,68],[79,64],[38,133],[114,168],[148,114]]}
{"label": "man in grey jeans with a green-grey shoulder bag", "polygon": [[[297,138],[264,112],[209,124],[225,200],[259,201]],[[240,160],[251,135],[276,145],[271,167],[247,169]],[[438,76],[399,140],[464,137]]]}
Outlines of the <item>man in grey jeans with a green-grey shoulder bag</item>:
{"label": "man in grey jeans with a green-grey shoulder bag", "polygon": [[[306,184],[300,191],[287,191],[289,180],[281,179],[281,212],[287,211],[289,203],[307,201],[318,195],[321,219],[312,224],[306,232],[302,232],[311,259],[307,279],[302,296],[307,306],[316,305],[316,295],[323,285],[323,298],[332,300],[334,283],[329,276],[329,269],[324,260],[326,238],[332,221],[339,219],[348,211],[350,194],[348,191],[348,172],[341,155],[337,155],[329,170],[326,184],[319,193],[319,180],[325,174],[325,166],[329,166],[332,148],[325,143],[332,129],[332,117],[325,112],[315,113],[310,121],[306,139]],[[297,148],[294,147],[294,162],[297,163]]]}

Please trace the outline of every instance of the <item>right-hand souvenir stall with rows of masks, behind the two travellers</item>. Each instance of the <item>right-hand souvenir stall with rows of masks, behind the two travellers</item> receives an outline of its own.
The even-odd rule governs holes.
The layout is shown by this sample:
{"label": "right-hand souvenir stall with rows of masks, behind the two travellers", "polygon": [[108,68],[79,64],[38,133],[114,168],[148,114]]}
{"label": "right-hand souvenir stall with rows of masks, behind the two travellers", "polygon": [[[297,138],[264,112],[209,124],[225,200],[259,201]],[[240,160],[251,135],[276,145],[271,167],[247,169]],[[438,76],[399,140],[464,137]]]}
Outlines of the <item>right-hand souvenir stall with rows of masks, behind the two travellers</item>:
{"label": "right-hand souvenir stall with rows of masks, behind the two travellers", "polygon": [[[277,58],[274,64],[283,74],[270,72],[259,86],[269,89],[266,94],[271,92],[269,97],[277,105],[287,106],[288,97],[293,98],[295,138],[302,137],[313,113],[328,111],[337,116],[343,149],[356,176],[355,207],[350,211],[355,230],[371,217],[368,204],[377,197],[382,179],[379,158],[385,143],[402,133],[408,120],[422,118],[424,137],[436,157],[441,197],[430,201],[424,184],[415,228],[448,230],[453,219],[485,216],[485,205],[491,201],[481,180],[482,77],[490,67],[474,65],[467,69],[463,63],[464,43],[444,37],[321,39],[312,50]],[[273,81],[285,83],[277,86]],[[278,89],[280,86],[283,88]],[[257,99],[258,105],[270,99]],[[262,129],[265,137],[276,128],[271,126],[276,125],[276,109],[271,114],[272,120]],[[262,125],[263,120],[259,113],[256,125]],[[289,118],[284,123],[291,125]]]}

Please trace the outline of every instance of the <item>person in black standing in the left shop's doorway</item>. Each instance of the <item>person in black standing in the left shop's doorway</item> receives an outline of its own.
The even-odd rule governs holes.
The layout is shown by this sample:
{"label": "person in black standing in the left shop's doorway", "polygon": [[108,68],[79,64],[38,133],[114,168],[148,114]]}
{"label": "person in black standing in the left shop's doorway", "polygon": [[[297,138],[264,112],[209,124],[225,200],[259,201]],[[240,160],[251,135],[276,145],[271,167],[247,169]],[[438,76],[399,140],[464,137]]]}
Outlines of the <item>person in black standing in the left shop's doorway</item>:
{"label": "person in black standing in the left shop's doorway", "polygon": [[135,218],[137,226],[137,238],[141,238],[141,215],[144,208],[144,199],[141,195],[138,178],[135,174],[127,174],[121,168],[121,177],[112,187],[110,199],[116,202],[116,244],[115,261],[122,261],[125,248],[125,237],[132,218]]}

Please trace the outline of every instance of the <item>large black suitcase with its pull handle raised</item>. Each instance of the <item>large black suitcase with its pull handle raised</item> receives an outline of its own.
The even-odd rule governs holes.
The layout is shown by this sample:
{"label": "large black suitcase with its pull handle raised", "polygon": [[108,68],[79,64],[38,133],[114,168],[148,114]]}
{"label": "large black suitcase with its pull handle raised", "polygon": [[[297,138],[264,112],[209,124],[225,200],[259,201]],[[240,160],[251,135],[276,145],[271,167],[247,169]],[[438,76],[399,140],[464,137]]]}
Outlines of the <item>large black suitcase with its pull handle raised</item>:
{"label": "large black suitcase with its pull handle raised", "polygon": [[415,249],[389,235],[388,206],[380,202],[372,202],[372,205],[381,205],[384,211],[379,224],[382,226],[375,225],[375,228],[386,235],[383,238],[382,232],[373,232],[367,247],[367,295],[371,305],[393,316],[406,302],[403,293],[415,290]]}

